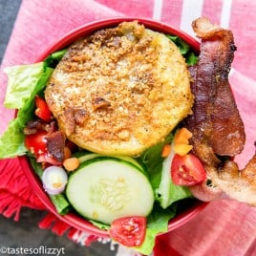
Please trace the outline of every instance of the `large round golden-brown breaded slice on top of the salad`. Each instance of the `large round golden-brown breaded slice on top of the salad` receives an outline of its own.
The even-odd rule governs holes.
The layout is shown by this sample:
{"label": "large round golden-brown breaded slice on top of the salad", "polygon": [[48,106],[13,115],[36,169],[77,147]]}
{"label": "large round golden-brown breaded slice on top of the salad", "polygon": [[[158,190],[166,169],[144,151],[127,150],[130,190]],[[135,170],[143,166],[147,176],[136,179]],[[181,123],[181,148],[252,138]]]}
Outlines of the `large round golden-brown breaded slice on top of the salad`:
{"label": "large round golden-brown breaded slice on top of the salad", "polygon": [[164,139],[193,104],[179,49],[137,21],[71,45],[45,96],[67,138],[96,153],[127,156]]}

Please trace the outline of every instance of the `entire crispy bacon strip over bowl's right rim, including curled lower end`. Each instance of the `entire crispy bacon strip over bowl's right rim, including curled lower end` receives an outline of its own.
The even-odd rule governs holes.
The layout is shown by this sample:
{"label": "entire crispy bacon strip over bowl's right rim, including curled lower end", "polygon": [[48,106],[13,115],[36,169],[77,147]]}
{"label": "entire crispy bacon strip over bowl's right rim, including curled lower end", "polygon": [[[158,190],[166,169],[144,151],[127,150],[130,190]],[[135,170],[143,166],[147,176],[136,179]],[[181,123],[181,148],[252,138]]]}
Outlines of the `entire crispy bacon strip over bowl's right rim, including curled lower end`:
{"label": "entire crispy bacon strip over bowl's right rim, including curled lower end", "polygon": [[256,205],[256,155],[239,171],[232,160],[245,144],[245,127],[228,83],[233,61],[233,34],[212,25],[206,18],[196,19],[193,29],[202,38],[200,60],[190,69],[195,96],[193,115],[184,125],[193,133],[194,153],[203,161],[211,181],[230,198]]}

